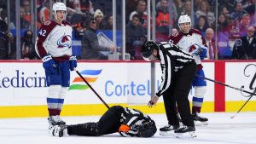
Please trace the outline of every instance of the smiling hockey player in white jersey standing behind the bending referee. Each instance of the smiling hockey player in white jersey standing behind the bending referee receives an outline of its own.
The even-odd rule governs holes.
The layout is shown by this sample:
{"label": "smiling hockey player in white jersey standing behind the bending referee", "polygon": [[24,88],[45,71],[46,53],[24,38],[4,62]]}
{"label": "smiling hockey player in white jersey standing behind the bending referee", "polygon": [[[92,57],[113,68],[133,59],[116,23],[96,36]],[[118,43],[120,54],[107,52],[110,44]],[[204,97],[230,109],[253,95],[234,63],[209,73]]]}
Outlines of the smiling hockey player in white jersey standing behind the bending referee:
{"label": "smiling hockey player in white jersey standing behind the bending referee", "polygon": [[[185,51],[190,53],[194,52],[194,49],[204,49],[200,55],[194,55],[195,63],[197,65],[197,75],[205,77],[202,70],[201,60],[203,60],[207,55],[207,47],[205,39],[201,36],[201,32],[196,29],[191,28],[191,20],[189,15],[181,15],[178,19],[178,26],[180,32],[172,34],[169,37],[169,43],[176,44]],[[207,91],[207,82],[203,78],[195,78],[192,81],[192,86],[195,88],[195,95],[193,96],[192,103],[192,115],[195,124],[207,124],[208,119],[203,118],[199,115],[201,112],[201,106],[204,99],[204,95]],[[168,117],[168,116],[167,116]],[[168,118],[169,119],[169,118]],[[160,133],[165,133],[169,131],[170,124],[160,129]],[[165,134],[164,134],[165,135]]]}

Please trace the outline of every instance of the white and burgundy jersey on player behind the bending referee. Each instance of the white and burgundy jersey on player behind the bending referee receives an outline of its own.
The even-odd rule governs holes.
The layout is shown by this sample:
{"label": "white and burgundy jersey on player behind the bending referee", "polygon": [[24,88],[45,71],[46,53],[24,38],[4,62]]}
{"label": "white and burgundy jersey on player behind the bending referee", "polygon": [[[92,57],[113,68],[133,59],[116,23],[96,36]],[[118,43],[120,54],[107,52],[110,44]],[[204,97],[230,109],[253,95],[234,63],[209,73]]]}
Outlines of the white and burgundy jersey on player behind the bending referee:
{"label": "white and burgundy jersey on player behind the bending referee", "polygon": [[[169,43],[173,43],[188,52],[195,49],[194,44],[207,46],[206,40],[201,36],[201,32],[196,29],[191,29],[188,34],[183,32],[172,34],[172,36],[169,37]],[[195,55],[193,57],[195,59],[195,63],[198,65],[198,68],[202,68],[200,56]]]}

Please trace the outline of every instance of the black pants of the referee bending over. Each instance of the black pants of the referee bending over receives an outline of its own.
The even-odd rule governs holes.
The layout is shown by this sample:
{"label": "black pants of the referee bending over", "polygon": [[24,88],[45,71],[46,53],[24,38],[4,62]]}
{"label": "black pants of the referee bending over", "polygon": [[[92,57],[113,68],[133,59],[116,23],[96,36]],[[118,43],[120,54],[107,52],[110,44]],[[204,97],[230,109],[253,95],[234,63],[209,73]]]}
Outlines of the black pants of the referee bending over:
{"label": "black pants of the referee bending over", "polygon": [[193,61],[172,75],[171,86],[163,95],[168,124],[179,125],[178,110],[184,125],[195,126],[189,107],[189,91],[195,72],[196,64]]}

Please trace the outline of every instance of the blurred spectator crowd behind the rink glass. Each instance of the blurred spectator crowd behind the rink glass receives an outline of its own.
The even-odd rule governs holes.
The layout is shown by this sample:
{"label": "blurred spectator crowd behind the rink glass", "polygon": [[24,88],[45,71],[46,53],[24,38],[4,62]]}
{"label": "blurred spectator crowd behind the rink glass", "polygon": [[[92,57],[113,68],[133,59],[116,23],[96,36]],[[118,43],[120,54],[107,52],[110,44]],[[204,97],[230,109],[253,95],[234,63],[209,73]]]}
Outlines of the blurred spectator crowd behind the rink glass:
{"label": "blurred spectator crowd behind the rink glass", "polygon": [[[94,29],[96,33],[112,32],[112,0],[67,0],[65,2],[67,4],[67,20],[71,22],[74,38],[77,40],[86,38],[84,32],[91,29],[88,26],[91,25],[91,22],[96,23]],[[193,2],[190,0],[172,0],[172,2],[155,0],[156,15],[151,14],[151,16],[155,16],[156,20],[155,36],[157,42],[166,41],[167,37],[179,31],[178,17],[182,14],[188,14],[192,20],[192,26],[200,30],[203,36],[208,39],[207,44],[211,43],[210,46],[213,48],[214,55],[208,54],[208,60],[256,59],[255,0],[218,0],[217,8],[215,0],[194,0]],[[12,10],[9,25],[7,25],[7,2],[0,0],[0,3],[0,59],[15,59],[15,36],[10,31],[16,27],[16,15],[13,13],[15,3],[10,3]],[[50,3],[49,0],[37,0],[36,3],[38,19],[37,24],[33,24],[33,26],[37,26],[39,29],[44,21],[51,19]],[[132,60],[141,59],[139,49],[147,39],[147,7],[147,0],[125,1],[125,46],[126,52],[131,55]],[[35,33],[31,30],[30,13],[30,0],[20,0],[20,29],[24,30],[20,41],[20,58],[34,60],[38,57],[34,50],[33,42],[35,40],[32,37]],[[90,22],[88,22],[89,19]],[[152,22],[152,17],[150,22]],[[121,31],[121,1],[117,1],[117,29]],[[84,49],[83,44],[81,53]],[[88,43],[85,44],[88,45]],[[100,47],[98,49],[103,51]],[[116,48],[113,46],[108,48],[110,52],[113,52],[113,49]],[[255,57],[253,56],[254,53]],[[107,58],[97,56],[96,59]]]}

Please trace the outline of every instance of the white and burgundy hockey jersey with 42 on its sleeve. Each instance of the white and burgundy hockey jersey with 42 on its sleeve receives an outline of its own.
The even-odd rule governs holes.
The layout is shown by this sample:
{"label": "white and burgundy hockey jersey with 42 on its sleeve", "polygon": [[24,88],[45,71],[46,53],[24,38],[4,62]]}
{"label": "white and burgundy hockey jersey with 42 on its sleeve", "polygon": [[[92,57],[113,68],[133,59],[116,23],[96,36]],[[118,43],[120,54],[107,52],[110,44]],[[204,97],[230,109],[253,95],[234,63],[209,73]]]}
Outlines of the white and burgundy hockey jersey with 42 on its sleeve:
{"label": "white and burgundy hockey jersey with 42 on its sleeve", "polygon": [[36,52],[41,58],[51,55],[56,61],[69,60],[72,55],[72,26],[64,20],[61,25],[50,20],[41,26]]}

